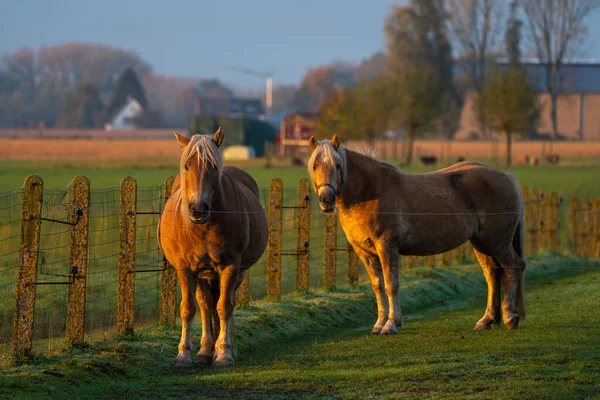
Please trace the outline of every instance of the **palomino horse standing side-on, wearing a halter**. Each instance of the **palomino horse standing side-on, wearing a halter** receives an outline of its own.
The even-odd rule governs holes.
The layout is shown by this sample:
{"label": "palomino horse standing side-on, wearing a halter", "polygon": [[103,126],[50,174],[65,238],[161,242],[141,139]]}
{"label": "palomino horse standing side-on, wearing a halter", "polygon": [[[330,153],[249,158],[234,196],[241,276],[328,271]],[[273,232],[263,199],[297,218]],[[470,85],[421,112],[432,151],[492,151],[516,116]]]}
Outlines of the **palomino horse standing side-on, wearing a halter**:
{"label": "palomino horse standing side-on, wearing a halter", "polygon": [[[377,299],[373,334],[397,333],[399,256],[433,255],[470,240],[488,285],[476,330],[525,317],[523,198],[516,180],[474,162],[407,174],[331,141],[310,139],[308,172],[324,212],[339,211],[342,229],[363,261]],[[500,286],[504,280],[504,299]],[[501,307],[502,306],[502,307]]]}

